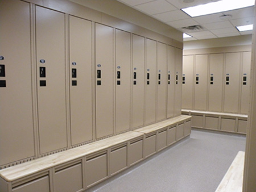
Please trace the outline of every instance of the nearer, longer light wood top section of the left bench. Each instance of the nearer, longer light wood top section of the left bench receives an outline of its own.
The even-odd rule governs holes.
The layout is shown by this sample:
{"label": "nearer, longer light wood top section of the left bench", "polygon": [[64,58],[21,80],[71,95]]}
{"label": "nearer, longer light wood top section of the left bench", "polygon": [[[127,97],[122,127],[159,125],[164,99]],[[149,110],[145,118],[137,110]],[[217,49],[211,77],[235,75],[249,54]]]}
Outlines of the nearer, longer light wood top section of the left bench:
{"label": "nearer, longer light wood top section of the left bench", "polygon": [[53,166],[76,160],[77,158],[84,157],[94,152],[101,151],[103,149],[124,143],[126,141],[135,139],[143,135],[143,133],[135,131],[129,131],[126,133],[122,133],[121,135],[115,135],[113,137],[109,137],[100,141],[95,141],[81,147],[68,149],[67,151],[59,152],[46,157],[37,158],[36,160],[24,162],[23,164],[2,169],[0,170],[0,176],[7,182],[15,181],[30,174],[38,173],[42,170],[52,168]]}

